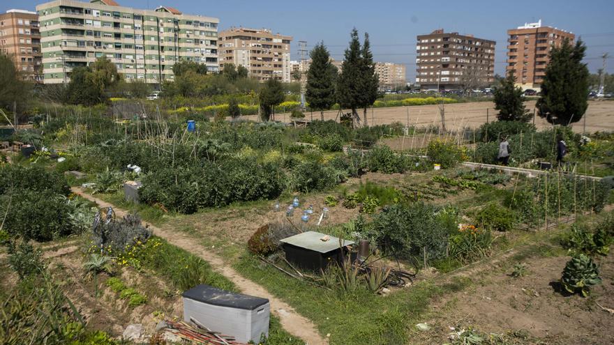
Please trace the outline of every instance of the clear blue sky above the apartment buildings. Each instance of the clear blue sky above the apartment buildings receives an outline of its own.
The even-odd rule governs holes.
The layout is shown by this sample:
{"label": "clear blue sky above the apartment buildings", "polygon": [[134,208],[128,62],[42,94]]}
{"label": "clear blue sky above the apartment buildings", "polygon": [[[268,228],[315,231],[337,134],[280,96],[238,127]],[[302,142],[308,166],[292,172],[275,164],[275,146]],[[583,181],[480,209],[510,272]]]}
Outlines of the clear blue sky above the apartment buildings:
{"label": "clear blue sky above the apartment buildings", "polygon": [[[196,1],[117,0],[121,6],[155,8],[168,5],[184,13],[220,18],[220,29],[230,26],[269,28],[294,37],[292,59],[298,59],[299,40],[313,46],[320,40],[335,59],[343,59],[352,27],[367,31],[376,61],[405,63],[407,76],[415,75],[415,41],[437,28],[470,33],[497,41],[495,72],[505,66],[507,29],[537,22],[580,34],[587,45],[585,62],[591,72],[601,68],[601,54],[610,53],[608,72],[614,73],[614,1]],[[36,0],[2,0],[0,10],[34,10]],[[504,5],[504,4],[505,5]]]}

